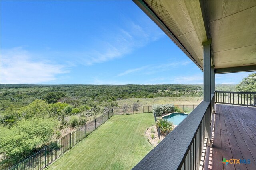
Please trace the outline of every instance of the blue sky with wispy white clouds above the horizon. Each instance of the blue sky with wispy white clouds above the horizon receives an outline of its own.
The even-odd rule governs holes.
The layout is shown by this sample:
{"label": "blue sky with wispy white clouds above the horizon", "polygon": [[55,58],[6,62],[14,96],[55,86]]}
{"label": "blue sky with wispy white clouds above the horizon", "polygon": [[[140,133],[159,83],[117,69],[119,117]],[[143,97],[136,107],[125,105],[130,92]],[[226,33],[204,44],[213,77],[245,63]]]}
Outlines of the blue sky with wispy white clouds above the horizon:
{"label": "blue sky with wispy white clouds above the horizon", "polygon": [[1,1],[1,83],[202,84],[203,73],[132,1]]}

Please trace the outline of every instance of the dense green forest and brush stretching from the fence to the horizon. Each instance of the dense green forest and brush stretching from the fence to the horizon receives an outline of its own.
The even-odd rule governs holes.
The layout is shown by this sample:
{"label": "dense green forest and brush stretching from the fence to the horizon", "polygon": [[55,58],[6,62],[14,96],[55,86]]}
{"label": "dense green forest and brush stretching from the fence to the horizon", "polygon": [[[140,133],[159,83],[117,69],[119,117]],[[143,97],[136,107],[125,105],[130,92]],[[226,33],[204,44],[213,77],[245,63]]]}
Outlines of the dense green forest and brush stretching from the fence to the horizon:
{"label": "dense green forest and brush stretching from the fence to the horizon", "polygon": [[108,108],[122,107],[118,100],[202,95],[202,85],[1,84],[1,165],[16,164]]}

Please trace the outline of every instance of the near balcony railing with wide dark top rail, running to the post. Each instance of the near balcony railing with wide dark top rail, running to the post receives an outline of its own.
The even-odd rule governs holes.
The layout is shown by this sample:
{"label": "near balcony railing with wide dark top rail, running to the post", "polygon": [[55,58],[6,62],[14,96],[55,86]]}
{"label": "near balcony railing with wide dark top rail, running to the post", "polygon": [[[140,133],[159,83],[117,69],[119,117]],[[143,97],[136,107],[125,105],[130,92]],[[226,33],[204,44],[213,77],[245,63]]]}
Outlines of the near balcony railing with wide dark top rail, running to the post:
{"label": "near balcony railing with wide dark top rail, running to the post", "polygon": [[211,102],[201,102],[133,169],[199,169],[204,140],[210,136],[214,99],[212,94]]}

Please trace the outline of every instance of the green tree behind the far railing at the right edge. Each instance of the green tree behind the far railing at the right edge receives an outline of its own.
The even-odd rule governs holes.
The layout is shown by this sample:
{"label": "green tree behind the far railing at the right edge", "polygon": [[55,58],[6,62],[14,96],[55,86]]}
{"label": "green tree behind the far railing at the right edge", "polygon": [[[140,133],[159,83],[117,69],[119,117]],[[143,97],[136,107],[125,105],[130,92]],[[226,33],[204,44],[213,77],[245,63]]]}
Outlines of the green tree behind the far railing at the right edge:
{"label": "green tree behind the far railing at the right edge", "polygon": [[256,92],[256,73],[249,74],[236,86],[240,92]]}

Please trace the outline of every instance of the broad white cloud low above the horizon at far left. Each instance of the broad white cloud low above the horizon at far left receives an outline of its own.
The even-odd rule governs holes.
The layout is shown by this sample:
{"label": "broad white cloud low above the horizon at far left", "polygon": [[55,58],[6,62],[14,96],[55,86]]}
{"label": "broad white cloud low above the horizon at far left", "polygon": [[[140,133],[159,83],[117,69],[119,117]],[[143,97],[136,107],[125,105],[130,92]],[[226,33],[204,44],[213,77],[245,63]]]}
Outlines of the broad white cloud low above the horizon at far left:
{"label": "broad white cloud low above the horizon at far left", "polygon": [[38,84],[56,80],[67,73],[65,66],[50,61],[36,61],[21,47],[1,51],[1,83]]}

